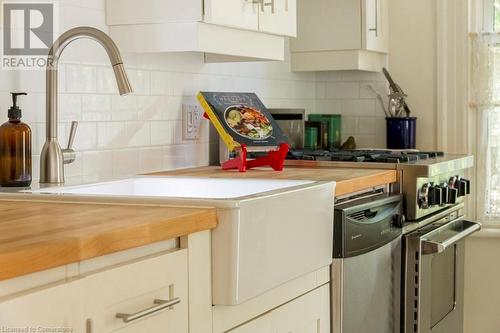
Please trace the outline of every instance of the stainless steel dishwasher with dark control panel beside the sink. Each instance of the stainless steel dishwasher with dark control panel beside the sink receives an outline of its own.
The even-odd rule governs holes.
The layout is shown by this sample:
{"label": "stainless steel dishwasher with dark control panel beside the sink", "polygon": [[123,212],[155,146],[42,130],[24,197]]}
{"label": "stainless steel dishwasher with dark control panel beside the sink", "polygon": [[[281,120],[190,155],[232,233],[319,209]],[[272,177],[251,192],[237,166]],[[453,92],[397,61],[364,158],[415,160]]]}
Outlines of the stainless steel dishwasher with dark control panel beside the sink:
{"label": "stainless steel dishwasher with dark control panel beside the sink", "polygon": [[375,195],[335,208],[331,271],[333,333],[399,330],[401,195]]}

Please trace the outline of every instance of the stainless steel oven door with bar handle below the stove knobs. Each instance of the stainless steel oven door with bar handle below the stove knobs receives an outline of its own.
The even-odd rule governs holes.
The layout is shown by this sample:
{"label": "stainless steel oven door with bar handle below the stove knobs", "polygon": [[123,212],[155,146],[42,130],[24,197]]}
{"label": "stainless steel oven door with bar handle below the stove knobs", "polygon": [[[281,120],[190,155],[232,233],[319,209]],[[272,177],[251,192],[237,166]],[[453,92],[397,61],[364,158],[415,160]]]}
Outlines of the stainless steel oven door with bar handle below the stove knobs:
{"label": "stainless steel oven door with bar handle below the stove knobs", "polygon": [[465,238],[481,225],[462,211],[447,209],[403,237],[405,333],[463,332]]}

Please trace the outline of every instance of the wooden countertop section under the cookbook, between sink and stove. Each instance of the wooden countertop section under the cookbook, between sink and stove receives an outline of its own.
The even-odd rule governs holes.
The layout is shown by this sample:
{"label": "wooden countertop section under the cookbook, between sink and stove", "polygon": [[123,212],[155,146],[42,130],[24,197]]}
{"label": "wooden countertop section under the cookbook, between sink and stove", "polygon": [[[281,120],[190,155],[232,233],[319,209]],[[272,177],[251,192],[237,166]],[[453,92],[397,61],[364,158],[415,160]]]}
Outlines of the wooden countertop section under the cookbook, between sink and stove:
{"label": "wooden countertop section under the cookbook, between sink and stove", "polygon": [[157,172],[150,175],[335,181],[337,182],[337,186],[335,188],[336,196],[346,195],[398,181],[398,173],[396,170],[331,167],[285,167],[283,171],[279,172],[270,169],[252,169],[244,173],[236,170],[224,171],[220,167],[201,167]]}

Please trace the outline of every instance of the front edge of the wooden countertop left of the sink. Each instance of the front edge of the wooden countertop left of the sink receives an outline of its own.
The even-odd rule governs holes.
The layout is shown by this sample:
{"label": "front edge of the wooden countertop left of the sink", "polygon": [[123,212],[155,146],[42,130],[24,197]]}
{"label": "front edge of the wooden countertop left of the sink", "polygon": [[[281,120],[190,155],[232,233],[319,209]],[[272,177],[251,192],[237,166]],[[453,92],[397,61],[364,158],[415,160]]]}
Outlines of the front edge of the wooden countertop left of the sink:
{"label": "front edge of the wooden countertop left of the sink", "polygon": [[[21,246],[0,253],[0,281],[47,269],[80,262],[103,255],[129,250],[217,226],[215,208],[195,208],[168,221],[141,225],[117,226],[115,229],[89,233],[83,237],[63,237],[59,240]],[[165,224],[167,223],[167,224]]]}

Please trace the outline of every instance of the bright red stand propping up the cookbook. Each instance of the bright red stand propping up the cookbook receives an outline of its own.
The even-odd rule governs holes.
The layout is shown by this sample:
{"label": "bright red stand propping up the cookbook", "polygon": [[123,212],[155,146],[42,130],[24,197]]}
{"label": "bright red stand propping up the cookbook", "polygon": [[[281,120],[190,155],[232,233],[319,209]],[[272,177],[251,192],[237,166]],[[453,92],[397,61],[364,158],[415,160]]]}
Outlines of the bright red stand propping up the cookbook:
{"label": "bright red stand propping up the cookbook", "polygon": [[[203,116],[209,119],[206,113]],[[222,163],[222,170],[238,169],[239,172],[246,172],[248,169],[270,166],[274,171],[283,171],[289,149],[288,144],[282,143],[278,150],[271,150],[266,156],[247,159],[247,146],[242,144],[237,157]]]}

